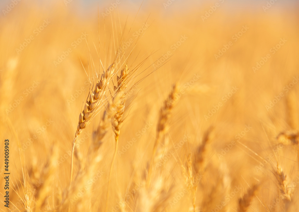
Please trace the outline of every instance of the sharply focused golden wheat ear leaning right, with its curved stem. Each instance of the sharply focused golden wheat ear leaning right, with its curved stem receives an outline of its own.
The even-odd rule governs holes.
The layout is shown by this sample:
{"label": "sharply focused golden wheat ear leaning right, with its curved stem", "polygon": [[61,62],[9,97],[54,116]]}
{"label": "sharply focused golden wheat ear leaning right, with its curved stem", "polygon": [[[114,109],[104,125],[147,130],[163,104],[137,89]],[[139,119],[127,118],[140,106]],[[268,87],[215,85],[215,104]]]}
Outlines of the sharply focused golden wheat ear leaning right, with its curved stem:
{"label": "sharply focused golden wheat ear leaning right, with its curved stem", "polygon": [[106,87],[108,86],[115,69],[114,64],[115,63],[110,65],[106,72],[103,71],[101,78],[99,78],[97,84],[95,85],[94,91],[89,93],[83,111],[80,112],[79,123],[75,133],[72,154],[71,154],[70,184],[72,182],[72,176],[73,176],[73,162],[74,162],[74,150],[75,150],[76,140],[78,138],[78,135],[82,132],[82,130],[89,124],[91,117],[95,114],[98,106],[100,105],[101,100],[105,96]]}

